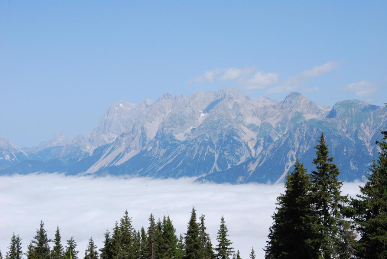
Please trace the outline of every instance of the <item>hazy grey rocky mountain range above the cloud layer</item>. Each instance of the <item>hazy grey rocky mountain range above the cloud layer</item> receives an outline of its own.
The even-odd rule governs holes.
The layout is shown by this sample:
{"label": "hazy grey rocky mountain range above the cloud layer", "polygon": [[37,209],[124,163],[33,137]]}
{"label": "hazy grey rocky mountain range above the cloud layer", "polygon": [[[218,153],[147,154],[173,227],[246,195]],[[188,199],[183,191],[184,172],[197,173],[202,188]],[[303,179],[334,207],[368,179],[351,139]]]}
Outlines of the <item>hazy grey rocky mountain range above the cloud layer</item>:
{"label": "hazy grey rocky mountain range above the cloud layer", "polygon": [[385,107],[357,100],[331,108],[298,93],[284,101],[250,99],[231,88],[164,94],[139,105],[115,102],[87,135],[68,140],[60,134],[25,148],[31,158],[0,174],[61,171],[276,182],[283,181],[296,158],[312,169],[313,147],[324,131],[341,179],[353,180],[368,172],[377,157],[379,130],[386,126]]}

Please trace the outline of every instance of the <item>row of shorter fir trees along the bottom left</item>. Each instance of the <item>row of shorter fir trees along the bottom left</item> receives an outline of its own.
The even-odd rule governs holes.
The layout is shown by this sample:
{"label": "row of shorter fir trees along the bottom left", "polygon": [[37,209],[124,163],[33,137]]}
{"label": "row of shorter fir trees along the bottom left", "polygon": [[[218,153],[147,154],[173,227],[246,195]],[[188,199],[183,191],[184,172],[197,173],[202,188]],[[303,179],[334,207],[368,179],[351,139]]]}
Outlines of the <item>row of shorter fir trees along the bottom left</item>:
{"label": "row of shorter fir trees along the bottom left", "polygon": [[[224,216],[220,220],[216,238],[218,244],[215,247],[206,230],[205,216],[201,215],[197,220],[195,208],[191,211],[187,233],[184,236],[180,234],[179,237],[176,236],[176,229],[169,216],[156,221],[151,214],[147,230],[144,227],[136,230],[132,225],[132,218],[125,210],[113,230],[106,230],[104,233],[101,249],[97,249],[92,237],[89,239],[83,259],[241,259],[239,250],[234,251],[231,247]],[[53,242],[52,249],[50,242]],[[22,259],[23,255],[27,259],[82,259],[74,237],[66,240],[63,246],[57,227],[54,239],[49,239],[43,221],[24,253],[21,244],[19,235],[12,234],[5,259]],[[3,259],[1,252],[0,259]],[[250,259],[255,259],[253,248]]]}

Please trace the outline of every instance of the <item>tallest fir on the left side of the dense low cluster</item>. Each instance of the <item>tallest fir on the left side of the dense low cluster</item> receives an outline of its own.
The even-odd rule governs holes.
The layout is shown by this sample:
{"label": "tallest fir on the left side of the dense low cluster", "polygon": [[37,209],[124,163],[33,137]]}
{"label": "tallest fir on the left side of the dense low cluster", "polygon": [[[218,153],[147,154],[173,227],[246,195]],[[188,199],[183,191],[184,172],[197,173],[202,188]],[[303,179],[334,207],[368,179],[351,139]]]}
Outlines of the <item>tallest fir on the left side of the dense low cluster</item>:
{"label": "tallest fir on the left side of the dense low cluster", "polygon": [[127,259],[131,255],[132,235],[133,235],[132,218],[129,217],[128,210],[125,210],[123,217],[120,220],[120,247],[121,257],[119,259]]}

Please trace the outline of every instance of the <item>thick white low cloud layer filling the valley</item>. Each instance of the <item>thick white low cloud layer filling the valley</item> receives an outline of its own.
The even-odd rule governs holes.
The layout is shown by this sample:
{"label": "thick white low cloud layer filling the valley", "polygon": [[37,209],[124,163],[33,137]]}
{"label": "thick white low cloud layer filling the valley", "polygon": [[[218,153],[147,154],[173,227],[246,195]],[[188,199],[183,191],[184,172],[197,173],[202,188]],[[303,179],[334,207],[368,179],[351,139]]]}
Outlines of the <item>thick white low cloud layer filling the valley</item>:
{"label": "thick white low cloud layer filling the valley", "polygon": [[[224,215],[233,247],[244,259],[253,246],[263,258],[276,197],[282,184],[198,184],[193,179],[124,179],[32,174],[0,177],[0,250],[5,255],[12,232],[19,233],[23,248],[43,220],[50,238],[59,225],[62,241],[74,235],[80,256],[90,236],[101,248],[103,233],[111,230],[125,209],[133,225],[147,227],[152,212],[170,215],[176,234],[187,230],[192,206],[205,214],[207,230],[216,245],[219,220]],[[344,194],[354,196],[360,183],[345,183]]]}

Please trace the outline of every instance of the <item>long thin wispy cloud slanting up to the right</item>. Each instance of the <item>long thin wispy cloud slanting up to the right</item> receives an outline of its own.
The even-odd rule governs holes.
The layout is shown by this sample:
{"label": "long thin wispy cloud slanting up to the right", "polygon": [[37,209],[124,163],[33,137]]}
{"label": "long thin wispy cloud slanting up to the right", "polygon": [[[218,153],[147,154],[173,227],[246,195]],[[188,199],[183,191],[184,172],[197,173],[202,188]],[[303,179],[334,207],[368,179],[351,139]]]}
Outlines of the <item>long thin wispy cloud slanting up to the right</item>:
{"label": "long thin wispy cloud slanting up to the right", "polygon": [[284,80],[284,82],[280,85],[271,87],[266,92],[269,94],[274,94],[295,91],[301,88],[303,86],[303,83],[305,83],[309,78],[319,77],[328,72],[331,72],[332,70],[337,68],[338,65],[338,62],[330,61],[325,64],[315,66],[312,69],[302,71],[293,77],[289,77],[288,79]]}

